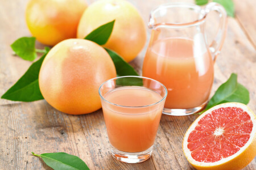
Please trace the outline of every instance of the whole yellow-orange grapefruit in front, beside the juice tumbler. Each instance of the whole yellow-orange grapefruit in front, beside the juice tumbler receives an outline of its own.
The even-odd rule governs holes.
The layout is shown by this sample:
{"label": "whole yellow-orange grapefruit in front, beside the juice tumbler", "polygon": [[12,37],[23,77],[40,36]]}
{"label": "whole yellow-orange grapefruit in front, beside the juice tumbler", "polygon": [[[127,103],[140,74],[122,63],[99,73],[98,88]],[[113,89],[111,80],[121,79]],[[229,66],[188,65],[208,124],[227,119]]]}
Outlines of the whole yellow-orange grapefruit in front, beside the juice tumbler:
{"label": "whole yellow-orange grapefruit in front, beside the juice tumbler", "polygon": [[68,39],[55,45],[39,71],[39,87],[46,101],[69,114],[101,108],[98,88],[116,75],[112,59],[100,45]]}

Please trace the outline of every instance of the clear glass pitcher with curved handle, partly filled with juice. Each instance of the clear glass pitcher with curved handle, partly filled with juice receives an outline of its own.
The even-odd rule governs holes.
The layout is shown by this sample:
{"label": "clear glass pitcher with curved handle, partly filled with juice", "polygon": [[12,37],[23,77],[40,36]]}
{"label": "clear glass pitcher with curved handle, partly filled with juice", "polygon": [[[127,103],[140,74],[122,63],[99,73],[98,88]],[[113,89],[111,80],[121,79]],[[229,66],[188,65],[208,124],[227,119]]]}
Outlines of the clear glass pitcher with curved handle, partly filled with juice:
{"label": "clear glass pitcher with curved handle, partly filled with juice", "polygon": [[[216,38],[208,45],[205,20],[210,11],[219,13],[220,24]],[[163,113],[184,116],[200,111],[207,104],[213,64],[225,38],[225,9],[214,2],[205,8],[168,3],[151,11],[148,27],[151,39],[142,74],[166,86]]]}

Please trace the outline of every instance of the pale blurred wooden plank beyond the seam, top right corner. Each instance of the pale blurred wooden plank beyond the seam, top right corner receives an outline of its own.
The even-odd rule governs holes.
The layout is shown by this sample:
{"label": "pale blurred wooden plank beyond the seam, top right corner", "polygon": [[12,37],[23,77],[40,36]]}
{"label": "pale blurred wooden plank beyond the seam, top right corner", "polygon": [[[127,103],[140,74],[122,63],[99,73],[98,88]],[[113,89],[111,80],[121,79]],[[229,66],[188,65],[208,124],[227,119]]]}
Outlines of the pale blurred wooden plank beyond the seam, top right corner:
{"label": "pale blurred wooden plank beyond the seam, top right corner", "polygon": [[234,3],[236,7],[236,19],[256,49],[256,1],[234,0]]}

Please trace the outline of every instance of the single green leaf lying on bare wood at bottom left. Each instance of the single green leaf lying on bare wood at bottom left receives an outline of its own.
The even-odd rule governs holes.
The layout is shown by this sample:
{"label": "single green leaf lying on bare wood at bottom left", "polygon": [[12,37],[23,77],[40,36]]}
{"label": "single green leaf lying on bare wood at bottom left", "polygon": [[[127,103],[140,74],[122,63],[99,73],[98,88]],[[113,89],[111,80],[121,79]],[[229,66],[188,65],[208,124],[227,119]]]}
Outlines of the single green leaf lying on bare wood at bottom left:
{"label": "single green leaf lying on bare wood at bottom left", "polygon": [[57,152],[57,153],[47,153],[36,155],[32,152],[35,156],[40,156],[43,161],[51,168],[55,170],[88,170],[88,166],[77,156],[69,155],[64,152]]}

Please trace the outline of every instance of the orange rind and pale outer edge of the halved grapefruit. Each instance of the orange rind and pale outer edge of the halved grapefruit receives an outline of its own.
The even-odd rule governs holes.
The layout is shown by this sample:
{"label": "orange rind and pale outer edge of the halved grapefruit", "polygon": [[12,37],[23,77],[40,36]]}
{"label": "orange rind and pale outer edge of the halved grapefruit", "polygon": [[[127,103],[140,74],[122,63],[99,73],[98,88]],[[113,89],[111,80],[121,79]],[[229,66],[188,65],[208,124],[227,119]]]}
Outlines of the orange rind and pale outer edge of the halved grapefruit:
{"label": "orange rind and pale outer edge of the halved grapefruit", "polygon": [[[231,104],[232,103],[234,103],[234,102],[231,102]],[[226,104],[226,103],[224,103],[224,104]],[[236,103],[234,103],[234,104],[236,104]],[[237,104],[244,105],[241,103],[237,103]],[[245,107],[247,107],[247,106],[245,105]],[[214,107],[213,107],[213,109],[214,109]],[[249,112],[253,113],[253,111],[251,111],[251,109],[249,107],[247,107],[247,109],[249,110]],[[253,116],[254,116],[254,122],[256,122],[255,114]],[[200,117],[198,117],[198,118],[200,118]],[[196,122],[196,120],[194,122]],[[191,124],[191,126],[193,126],[194,122]],[[255,125],[256,124],[254,124],[254,126]],[[191,126],[189,126],[188,129],[190,129]],[[188,133],[188,131],[186,132],[186,134],[187,133]],[[185,137],[185,135],[184,135],[184,137]],[[251,135],[253,135],[253,134],[251,134]],[[185,138],[183,138],[183,143],[184,143],[184,139]],[[183,152],[184,152],[184,145],[182,147],[183,147]],[[187,158],[185,152],[184,152],[184,155]],[[254,134],[253,141],[251,142],[249,147],[247,147],[236,158],[231,159],[228,162],[225,162],[223,164],[216,165],[216,166],[210,166],[210,167],[205,167],[205,166],[203,167],[203,166],[195,165],[195,164],[192,164],[191,162],[189,162],[189,163],[191,163],[193,167],[195,167],[196,169],[199,169],[199,170],[200,169],[202,169],[202,170],[238,170],[238,169],[242,169],[242,168],[246,167],[255,158],[255,155],[256,155],[256,134]],[[189,159],[187,158],[187,160],[189,160]]]}

